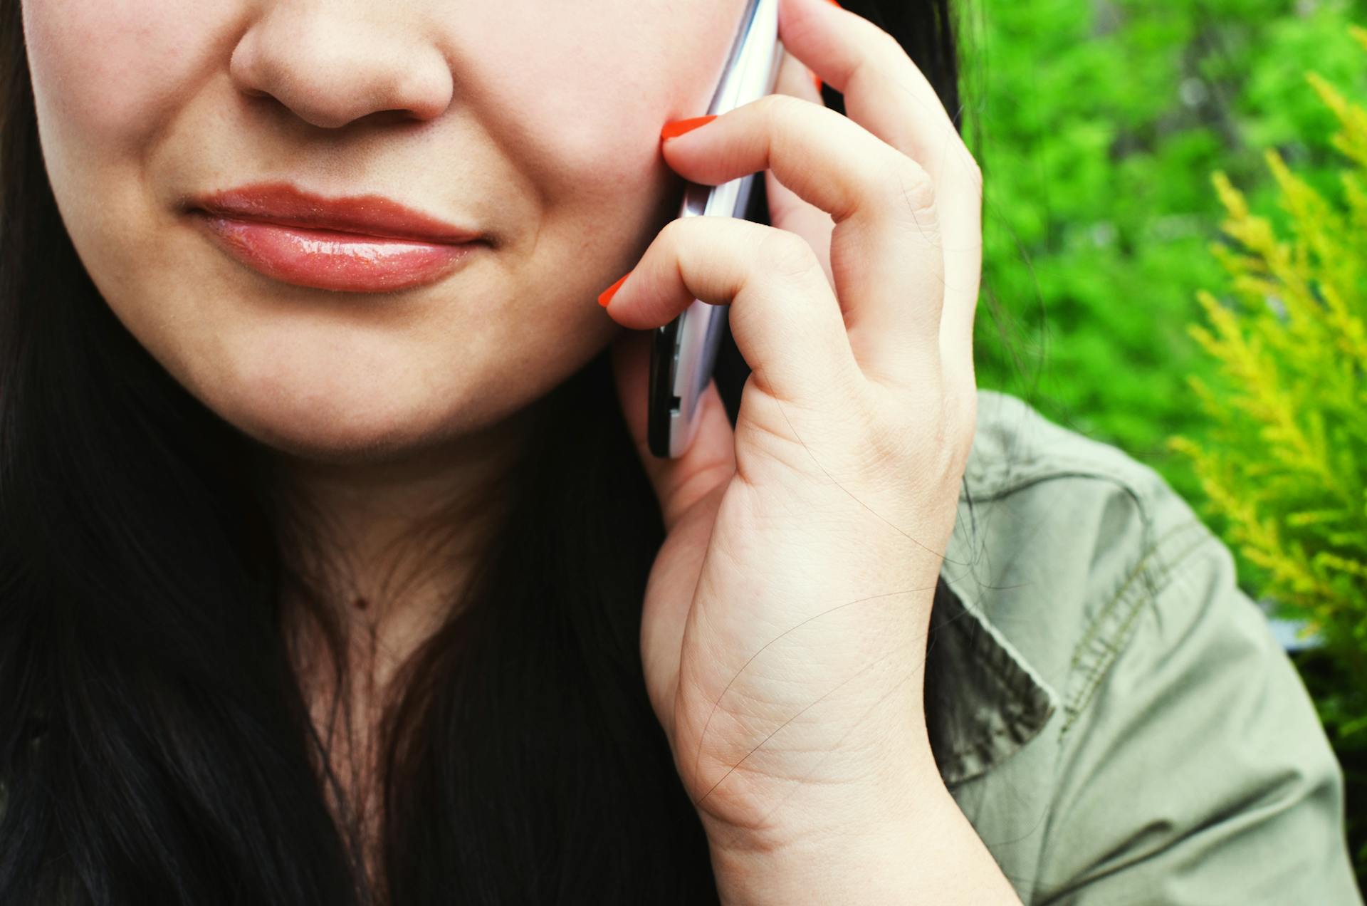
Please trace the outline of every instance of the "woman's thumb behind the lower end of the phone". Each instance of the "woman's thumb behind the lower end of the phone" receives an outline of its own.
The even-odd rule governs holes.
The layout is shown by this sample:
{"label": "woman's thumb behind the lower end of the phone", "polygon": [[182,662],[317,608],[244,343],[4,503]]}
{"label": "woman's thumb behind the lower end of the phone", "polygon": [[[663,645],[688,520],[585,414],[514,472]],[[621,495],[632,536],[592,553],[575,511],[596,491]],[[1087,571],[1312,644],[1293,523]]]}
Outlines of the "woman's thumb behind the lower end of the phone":
{"label": "woman's thumb behind the lower end of the phone", "polygon": [[709,380],[699,398],[697,434],[678,458],[660,458],[651,453],[647,441],[647,409],[653,330],[623,330],[612,342],[612,375],[618,401],[626,419],[636,452],[641,457],[664,516],[664,531],[673,531],[679,519],[718,484],[735,474],[735,438],[726,406]]}

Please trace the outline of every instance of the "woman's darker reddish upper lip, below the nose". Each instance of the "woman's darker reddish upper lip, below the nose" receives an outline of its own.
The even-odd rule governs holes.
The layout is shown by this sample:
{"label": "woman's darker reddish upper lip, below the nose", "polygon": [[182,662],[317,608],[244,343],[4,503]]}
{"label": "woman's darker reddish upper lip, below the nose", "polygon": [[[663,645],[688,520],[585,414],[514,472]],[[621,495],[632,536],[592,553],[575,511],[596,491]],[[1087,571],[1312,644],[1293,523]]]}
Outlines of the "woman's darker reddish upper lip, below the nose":
{"label": "woman's darker reddish upper lip, below the nose", "polygon": [[480,234],[379,194],[325,197],[288,182],[256,182],[190,200],[191,208],[242,220],[362,235],[457,244]]}

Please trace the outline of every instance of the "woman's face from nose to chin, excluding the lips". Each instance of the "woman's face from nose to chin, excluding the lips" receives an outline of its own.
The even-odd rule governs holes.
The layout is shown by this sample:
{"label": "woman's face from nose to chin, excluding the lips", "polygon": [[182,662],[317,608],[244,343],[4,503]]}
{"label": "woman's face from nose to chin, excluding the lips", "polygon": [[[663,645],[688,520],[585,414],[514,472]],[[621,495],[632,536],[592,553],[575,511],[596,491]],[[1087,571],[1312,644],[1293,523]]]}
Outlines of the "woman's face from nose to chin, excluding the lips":
{"label": "woman's face from nose to chin, excluding the lips", "polygon": [[[25,0],[23,26],[57,207],[115,315],[230,423],[349,461],[507,417],[619,330],[596,296],[675,213],[660,126],[705,112],[742,7]],[[267,182],[488,241],[407,289],[299,285],[187,209]]]}

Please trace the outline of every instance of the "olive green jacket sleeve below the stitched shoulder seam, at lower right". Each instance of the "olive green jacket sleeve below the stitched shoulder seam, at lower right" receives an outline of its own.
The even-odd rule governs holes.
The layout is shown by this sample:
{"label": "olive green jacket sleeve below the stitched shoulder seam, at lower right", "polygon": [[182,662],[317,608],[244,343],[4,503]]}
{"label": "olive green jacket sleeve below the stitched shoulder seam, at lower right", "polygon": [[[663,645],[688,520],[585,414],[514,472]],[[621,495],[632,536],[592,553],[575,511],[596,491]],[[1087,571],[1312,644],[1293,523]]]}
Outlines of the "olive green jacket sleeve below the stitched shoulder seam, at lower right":
{"label": "olive green jacket sleeve below the stitched shoulder seam, at lower right", "polygon": [[[1172,490],[1150,528],[1196,523]],[[1172,532],[1169,532],[1172,534]],[[1196,523],[1144,554],[1103,672],[1074,658],[1032,903],[1362,903],[1342,773],[1295,666]],[[1191,543],[1193,542],[1193,543]]]}

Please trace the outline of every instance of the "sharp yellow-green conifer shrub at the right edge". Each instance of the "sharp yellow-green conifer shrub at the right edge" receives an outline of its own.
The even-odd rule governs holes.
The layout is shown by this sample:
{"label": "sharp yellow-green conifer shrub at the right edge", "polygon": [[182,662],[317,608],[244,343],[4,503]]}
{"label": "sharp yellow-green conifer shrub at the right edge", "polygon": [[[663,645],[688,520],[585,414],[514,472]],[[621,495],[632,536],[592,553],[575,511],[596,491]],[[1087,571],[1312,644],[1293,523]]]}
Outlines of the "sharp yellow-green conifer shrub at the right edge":
{"label": "sharp yellow-green conifer shrub at the right edge", "polygon": [[[1367,49],[1367,30],[1349,33]],[[1197,293],[1206,323],[1189,333],[1218,375],[1191,378],[1207,426],[1170,448],[1192,463],[1245,576],[1321,639],[1333,668],[1321,717],[1355,764],[1367,751],[1367,109],[1318,73],[1305,79],[1340,125],[1341,193],[1269,149],[1289,218],[1280,231],[1215,172],[1229,241],[1210,248],[1232,298]]]}

